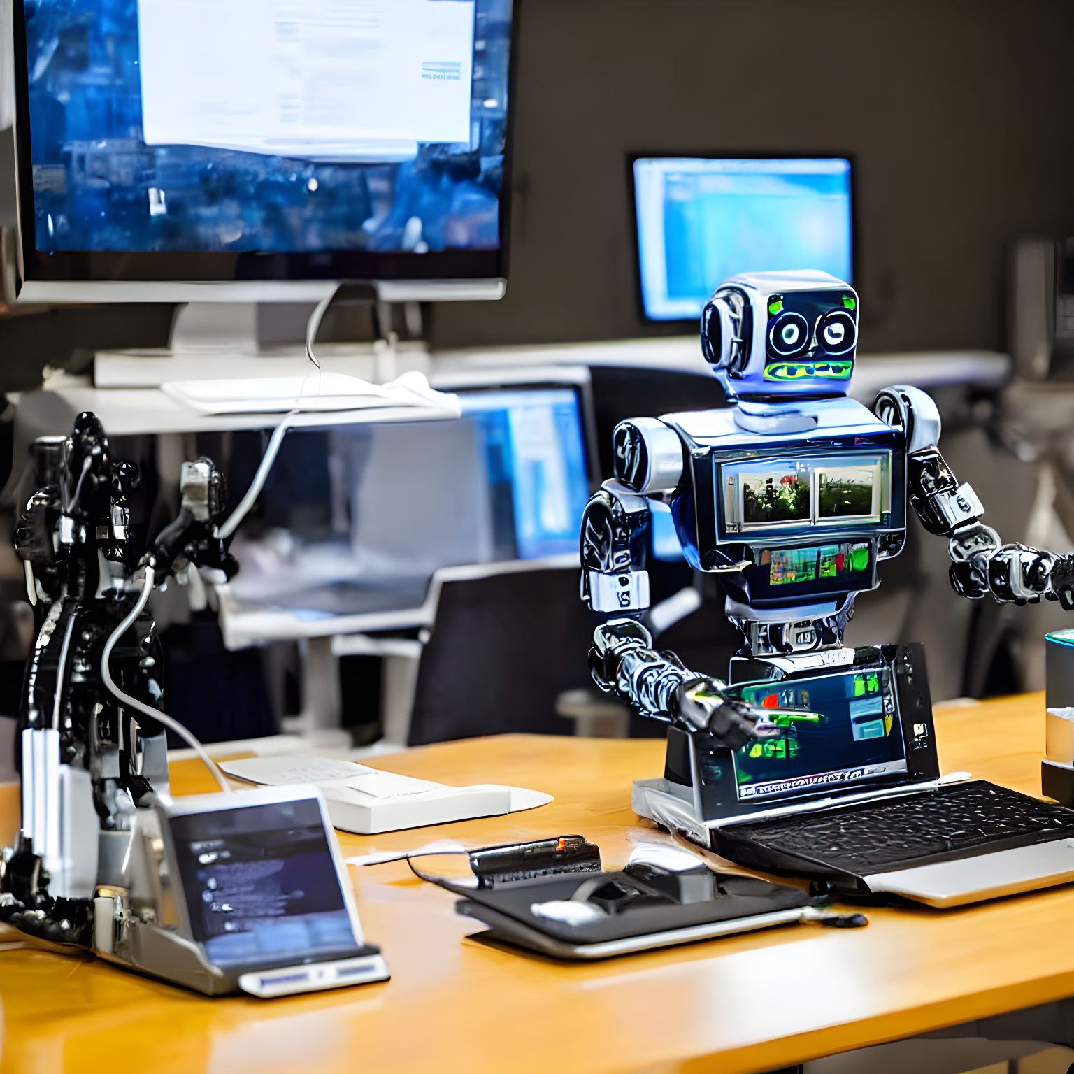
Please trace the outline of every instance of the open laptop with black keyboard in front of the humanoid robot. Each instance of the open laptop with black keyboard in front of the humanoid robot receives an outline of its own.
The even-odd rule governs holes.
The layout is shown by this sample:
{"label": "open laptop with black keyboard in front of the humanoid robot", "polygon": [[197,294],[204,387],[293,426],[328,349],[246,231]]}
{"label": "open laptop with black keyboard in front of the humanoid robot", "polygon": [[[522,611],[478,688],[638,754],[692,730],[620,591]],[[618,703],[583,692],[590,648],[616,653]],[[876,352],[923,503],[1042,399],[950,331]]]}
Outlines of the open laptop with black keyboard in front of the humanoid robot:
{"label": "open laptop with black keyboard in front of the humanoid robot", "polygon": [[[954,906],[1074,881],[1074,810],[940,778],[920,645],[824,655],[838,663],[734,662],[754,681],[731,693],[800,717],[736,752],[670,731],[664,778],[635,783],[635,810],[740,865],[847,895]],[[758,682],[763,669],[782,677]]]}

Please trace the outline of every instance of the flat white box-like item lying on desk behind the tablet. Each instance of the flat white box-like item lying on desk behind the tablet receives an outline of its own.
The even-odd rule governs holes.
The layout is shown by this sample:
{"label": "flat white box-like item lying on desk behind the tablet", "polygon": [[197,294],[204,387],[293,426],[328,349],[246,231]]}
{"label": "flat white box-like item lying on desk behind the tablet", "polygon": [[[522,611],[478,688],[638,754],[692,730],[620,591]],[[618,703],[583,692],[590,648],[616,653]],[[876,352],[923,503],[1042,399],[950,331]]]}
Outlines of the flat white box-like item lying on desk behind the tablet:
{"label": "flat white box-like item lying on desk behind the tablet", "polygon": [[324,795],[332,824],[363,836],[498,816],[552,801],[551,795],[523,787],[498,783],[449,787],[347,760],[294,754],[224,760],[220,767],[249,783],[314,783]]}

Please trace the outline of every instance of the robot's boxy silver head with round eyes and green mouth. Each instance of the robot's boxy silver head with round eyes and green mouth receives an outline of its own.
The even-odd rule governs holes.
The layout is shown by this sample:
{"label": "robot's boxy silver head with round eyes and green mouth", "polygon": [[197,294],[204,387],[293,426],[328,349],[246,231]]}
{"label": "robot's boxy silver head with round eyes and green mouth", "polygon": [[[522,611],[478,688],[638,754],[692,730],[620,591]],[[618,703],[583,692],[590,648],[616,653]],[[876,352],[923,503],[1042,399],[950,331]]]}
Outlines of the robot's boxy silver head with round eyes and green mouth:
{"label": "robot's boxy silver head with round eyes and green mouth", "polygon": [[857,293],[826,272],[731,276],[701,314],[701,352],[730,397],[845,395],[857,342]]}

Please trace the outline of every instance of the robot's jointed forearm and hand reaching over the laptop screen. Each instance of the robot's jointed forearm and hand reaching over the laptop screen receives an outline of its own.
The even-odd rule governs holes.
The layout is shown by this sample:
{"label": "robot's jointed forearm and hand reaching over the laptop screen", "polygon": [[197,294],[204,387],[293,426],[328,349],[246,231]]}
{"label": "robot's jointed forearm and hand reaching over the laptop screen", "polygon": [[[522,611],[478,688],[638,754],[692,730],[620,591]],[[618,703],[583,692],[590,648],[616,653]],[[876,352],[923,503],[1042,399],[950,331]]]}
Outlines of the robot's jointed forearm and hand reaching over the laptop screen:
{"label": "robot's jointed forearm and hand reaching over the laptop screen", "polygon": [[688,671],[673,653],[655,652],[637,620],[613,619],[597,627],[590,668],[603,691],[643,715],[686,731],[705,731],[731,750],[783,734],[767,709],[726,697],[719,679]]}

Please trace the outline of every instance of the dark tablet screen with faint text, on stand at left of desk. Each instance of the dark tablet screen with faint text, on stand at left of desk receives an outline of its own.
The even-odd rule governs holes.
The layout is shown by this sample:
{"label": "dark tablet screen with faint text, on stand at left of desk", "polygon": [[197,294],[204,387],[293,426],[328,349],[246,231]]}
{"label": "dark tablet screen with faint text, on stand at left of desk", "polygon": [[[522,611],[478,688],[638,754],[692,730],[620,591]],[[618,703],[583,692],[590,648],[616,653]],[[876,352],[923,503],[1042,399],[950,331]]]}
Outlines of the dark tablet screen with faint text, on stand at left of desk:
{"label": "dark tablet screen with faint text, on stand at left of desk", "polygon": [[359,946],[317,800],[169,819],[193,937],[217,966]]}

